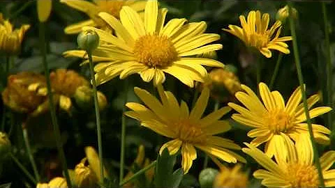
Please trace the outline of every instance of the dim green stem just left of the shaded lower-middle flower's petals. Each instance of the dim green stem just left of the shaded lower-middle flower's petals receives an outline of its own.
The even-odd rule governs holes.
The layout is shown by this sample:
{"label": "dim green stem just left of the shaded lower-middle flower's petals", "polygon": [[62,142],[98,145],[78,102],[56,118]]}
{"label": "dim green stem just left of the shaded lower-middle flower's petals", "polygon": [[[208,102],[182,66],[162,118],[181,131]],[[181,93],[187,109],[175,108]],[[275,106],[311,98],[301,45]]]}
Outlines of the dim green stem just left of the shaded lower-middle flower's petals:
{"label": "dim green stem just left of the shaded lower-middle flower's petals", "polygon": [[126,94],[124,95],[124,107],[122,109],[122,116],[121,116],[121,153],[120,153],[119,182],[121,182],[124,179],[124,153],[126,149],[126,116],[124,116],[124,112],[126,111],[126,102],[128,100],[127,80],[124,83],[124,91],[126,92]]}

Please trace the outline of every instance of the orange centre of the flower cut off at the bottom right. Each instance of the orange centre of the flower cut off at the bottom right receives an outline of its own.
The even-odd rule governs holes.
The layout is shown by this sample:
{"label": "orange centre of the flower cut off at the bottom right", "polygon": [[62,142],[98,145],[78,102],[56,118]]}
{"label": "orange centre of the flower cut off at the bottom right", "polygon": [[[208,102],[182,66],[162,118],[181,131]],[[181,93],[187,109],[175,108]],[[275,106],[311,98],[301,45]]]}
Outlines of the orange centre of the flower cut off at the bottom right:
{"label": "orange centre of the flower cut off at the bottom right", "polygon": [[292,163],[287,168],[287,178],[292,187],[318,187],[318,170],[313,165]]}

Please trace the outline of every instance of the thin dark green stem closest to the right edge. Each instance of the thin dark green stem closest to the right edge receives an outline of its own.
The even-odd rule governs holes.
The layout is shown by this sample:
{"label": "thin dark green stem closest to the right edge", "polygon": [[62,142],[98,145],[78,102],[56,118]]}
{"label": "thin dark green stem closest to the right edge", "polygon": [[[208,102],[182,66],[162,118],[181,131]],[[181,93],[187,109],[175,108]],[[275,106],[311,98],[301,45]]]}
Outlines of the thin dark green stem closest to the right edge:
{"label": "thin dark green stem closest to the right edge", "polygon": [[[330,56],[330,44],[329,44],[329,28],[328,28],[328,19],[327,19],[327,8],[325,2],[322,1],[322,14],[323,14],[323,22],[325,24],[325,51],[326,51],[326,63],[327,63],[327,98],[328,98],[328,105],[333,107],[333,100],[332,100],[332,58]],[[330,130],[333,130],[332,126],[332,112],[327,114],[327,120]],[[334,132],[334,130],[333,130]]]}

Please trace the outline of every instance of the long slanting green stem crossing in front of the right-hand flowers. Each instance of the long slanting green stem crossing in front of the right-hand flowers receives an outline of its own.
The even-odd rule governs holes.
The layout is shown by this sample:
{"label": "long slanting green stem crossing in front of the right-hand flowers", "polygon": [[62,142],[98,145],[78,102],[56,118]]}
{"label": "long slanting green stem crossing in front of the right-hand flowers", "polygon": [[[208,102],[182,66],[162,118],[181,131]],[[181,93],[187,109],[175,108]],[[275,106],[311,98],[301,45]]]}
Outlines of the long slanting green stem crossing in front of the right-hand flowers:
{"label": "long slanting green stem crossing in front of the right-hand flowers", "polygon": [[[288,6],[290,10],[290,15],[291,13],[291,8],[292,8],[292,2],[288,1]],[[311,137],[311,143],[313,146],[313,153],[314,153],[314,159],[315,159],[315,166],[318,169],[318,176],[319,176],[319,181],[320,181],[320,187],[325,187],[325,182],[323,180],[322,176],[322,169],[320,165],[320,159],[319,159],[319,154],[318,154],[318,148],[315,143],[314,135],[313,135],[313,128],[312,128],[312,123],[311,123],[311,117],[308,112],[308,104],[307,104],[307,98],[306,98],[306,93],[305,93],[305,88],[304,88],[304,77],[301,72],[301,64],[300,64],[300,58],[299,58],[299,51],[298,51],[298,44],[297,44],[297,34],[295,33],[295,19],[290,16],[290,29],[291,29],[291,35],[293,38],[293,52],[295,55],[295,65],[297,66],[297,74],[298,74],[298,79],[299,79],[299,84],[301,88],[301,95],[302,95],[302,100],[304,102],[304,112],[306,116],[306,121],[308,125],[308,132],[309,136]]]}

